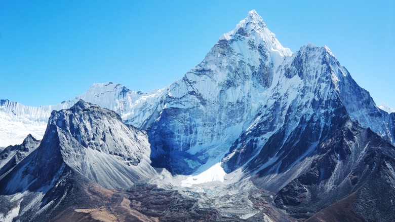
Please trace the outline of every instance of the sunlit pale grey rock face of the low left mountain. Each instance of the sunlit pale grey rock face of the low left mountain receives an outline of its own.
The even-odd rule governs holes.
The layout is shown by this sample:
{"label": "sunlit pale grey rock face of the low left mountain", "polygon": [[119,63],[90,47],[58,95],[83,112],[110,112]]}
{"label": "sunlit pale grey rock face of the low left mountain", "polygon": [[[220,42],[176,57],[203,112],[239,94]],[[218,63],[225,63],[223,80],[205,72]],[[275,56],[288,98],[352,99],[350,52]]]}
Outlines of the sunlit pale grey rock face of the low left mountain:
{"label": "sunlit pale grey rock face of the low left mountain", "polygon": [[154,172],[146,133],[98,105],[80,100],[53,112],[46,133],[58,134],[67,166],[105,188],[128,187]]}

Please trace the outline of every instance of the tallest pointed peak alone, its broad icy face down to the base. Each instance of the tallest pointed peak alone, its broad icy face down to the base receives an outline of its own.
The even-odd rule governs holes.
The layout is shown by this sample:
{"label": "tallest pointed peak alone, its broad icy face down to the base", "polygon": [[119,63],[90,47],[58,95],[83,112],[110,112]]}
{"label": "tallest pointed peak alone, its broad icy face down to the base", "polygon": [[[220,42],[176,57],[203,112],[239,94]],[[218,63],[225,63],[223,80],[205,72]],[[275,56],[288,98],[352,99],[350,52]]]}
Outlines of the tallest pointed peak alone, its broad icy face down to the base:
{"label": "tallest pointed peak alone, its broad icy face down to the base", "polygon": [[157,166],[190,174],[209,160],[220,162],[263,105],[280,60],[291,54],[255,11],[222,35],[162,99],[149,130]]}

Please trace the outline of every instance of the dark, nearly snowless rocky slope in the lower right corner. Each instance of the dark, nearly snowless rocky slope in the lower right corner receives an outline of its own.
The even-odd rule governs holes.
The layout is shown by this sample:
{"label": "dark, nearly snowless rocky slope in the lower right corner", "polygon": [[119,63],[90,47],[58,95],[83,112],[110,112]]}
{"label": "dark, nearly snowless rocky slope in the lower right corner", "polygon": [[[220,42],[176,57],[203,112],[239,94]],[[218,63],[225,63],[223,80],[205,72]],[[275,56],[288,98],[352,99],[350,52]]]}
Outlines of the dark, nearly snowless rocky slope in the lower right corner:
{"label": "dark, nearly snowless rocky slope in the lower right corner", "polygon": [[[395,215],[395,209],[388,207],[395,201],[394,149],[372,130],[348,120],[304,160],[275,176],[284,181],[298,174],[286,186],[278,183],[282,189],[275,202],[292,216],[308,218],[350,196],[348,213],[366,221],[389,221]],[[254,178],[257,183],[263,180],[259,174]]]}

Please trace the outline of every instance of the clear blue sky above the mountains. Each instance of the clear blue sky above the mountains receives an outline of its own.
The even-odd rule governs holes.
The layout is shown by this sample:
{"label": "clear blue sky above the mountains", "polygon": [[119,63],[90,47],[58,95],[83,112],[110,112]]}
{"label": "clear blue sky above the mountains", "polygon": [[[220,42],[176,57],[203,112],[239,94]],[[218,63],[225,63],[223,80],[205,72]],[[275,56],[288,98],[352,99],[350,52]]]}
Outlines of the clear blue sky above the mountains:
{"label": "clear blue sky above the mountains", "polygon": [[395,1],[379,2],[0,0],[0,99],[57,104],[108,81],[163,88],[255,9],[284,47],[327,45],[395,108]]}

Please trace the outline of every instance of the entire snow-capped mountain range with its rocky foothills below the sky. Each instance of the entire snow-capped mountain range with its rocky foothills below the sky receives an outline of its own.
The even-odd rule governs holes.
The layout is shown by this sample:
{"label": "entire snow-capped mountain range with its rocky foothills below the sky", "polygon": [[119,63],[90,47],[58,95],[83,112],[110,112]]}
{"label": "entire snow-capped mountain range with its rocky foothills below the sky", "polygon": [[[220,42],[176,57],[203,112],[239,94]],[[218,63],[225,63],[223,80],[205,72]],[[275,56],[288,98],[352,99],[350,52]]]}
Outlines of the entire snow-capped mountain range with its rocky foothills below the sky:
{"label": "entire snow-capped mountain range with its rocky foothills below the sky", "polygon": [[109,82],[56,106],[0,107],[9,126],[29,127],[68,108],[52,111],[38,147],[0,168],[3,218],[395,217],[395,114],[328,47],[292,53],[255,10],[162,90]]}

